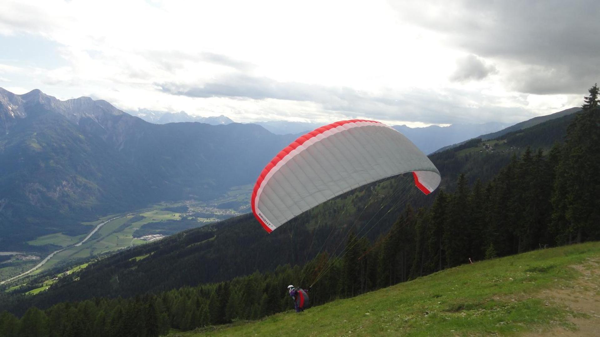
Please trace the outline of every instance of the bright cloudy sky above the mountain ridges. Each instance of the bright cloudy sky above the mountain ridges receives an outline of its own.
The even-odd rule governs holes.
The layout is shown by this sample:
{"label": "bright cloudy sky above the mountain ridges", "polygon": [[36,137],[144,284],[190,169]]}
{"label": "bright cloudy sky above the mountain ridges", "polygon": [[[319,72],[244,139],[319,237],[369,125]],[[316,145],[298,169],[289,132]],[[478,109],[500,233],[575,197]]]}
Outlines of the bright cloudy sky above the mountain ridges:
{"label": "bright cloudy sky above the mountain ridges", "polygon": [[600,1],[0,1],[0,87],[235,122],[517,123],[600,80]]}

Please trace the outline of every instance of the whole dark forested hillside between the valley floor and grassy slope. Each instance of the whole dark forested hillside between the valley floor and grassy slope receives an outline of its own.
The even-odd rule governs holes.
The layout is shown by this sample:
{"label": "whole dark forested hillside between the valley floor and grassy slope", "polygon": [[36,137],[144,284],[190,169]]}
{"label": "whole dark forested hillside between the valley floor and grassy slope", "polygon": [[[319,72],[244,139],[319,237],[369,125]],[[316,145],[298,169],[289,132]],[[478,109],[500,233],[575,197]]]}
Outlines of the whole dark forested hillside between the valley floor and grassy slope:
{"label": "whole dark forested hillside between the valley floor and grassy slope", "polygon": [[[532,132],[562,130],[560,122],[552,123],[557,124],[539,125]],[[440,189],[434,193],[433,205],[424,203],[414,208],[408,204],[400,215],[393,217],[395,221],[385,220],[385,217],[392,214],[391,210],[398,203],[383,209],[373,206],[372,201],[373,196],[397,196],[401,180],[388,180],[377,187],[347,193],[329,207],[307,212],[295,223],[287,224],[286,229],[271,235],[261,233],[260,226],[249,216],[226,220],[212,229],[190,230],[101,260],[77,275],[77,280],[64,278],[56,289],[31,300],[7,297],[2,301],[6,303],[4,308],[19,315],[27,311],[20,321],[12,314],[2,314],[0,325],[15,334],[22,331],[20,329],[35,326],[41,332],[85,329],[83,331],[90,334],[99,331],[118,336],[143,330],[145,335],[156,336],[169,327],[188,330],[234,319],[256,319],[281,311],[289,305],[284,293],[286,284],[313,286],[311,297],[313,303],[319,305],[469,263],[469,259],[479,261],[598,240],[600,199],[595,197],[600,189],[598,125],[598,87],[594,86],[585,99],[583,111],[566,129],[563,143],[544,150],[541,144],[554,138],[528,138],[527,130],[499,139],[495,146],[508,150],[494,152],[508,157],[509,162],[491,180],[478,179],[469,184],[466,175],[460,174],[455,189]],[[560,136],[557,134],[556,138]],[[517,144],[511,142],[523,139],[541,139],[534,144],[541,148],[527,147],[519,155],[509,151],[514,147],[511,144]],[[479,150],[479,143],[473,145],[477,146],[455,149],[455,155],[461,151],[473,156],[492,155]],[[388,192],[384,192],[385,189]],[[360,224],[343,226],[348,220],[352,223],[344,215],[338,217],[343,219],[341,225],[319,226],[319,220],[342,215],[349,206],[355,208],[350,214],[364,217]],[[368,215],[357,211],[361,208],[367,210]],[[385,214],[377,215],[378,208]],[[374,218],[376,222],[371,222]],[[317,224],[313,227],[315,221]],[[378,227],[380,223],[383,226]],[[393,223],[391,229],[386,230],[389,225],[386,227],[385,223]],[[370,241],[368,237],[373,228],[380,228],[380,235]],[[332,233],[338,237],[329,241]],[[335,244],[331,247],[337,242],[343,243],[342,250],[328,252],[325,249],[314,258],[309,257],[313,245],[319,247],[321,243],[331,245],[332,242]],[[168,266],[169,263],[173,266]],[[247,275],[253,269],[262,272]],[[244,274],[247,276],[232,281],[197,285],[205,282],[200,279],[206,280],[207,275],[216,275],[210,281],[221,281]],[[194,287],[172,290],[184,285]],[[61,298],[99,296],[96,288],[101,289],[101,295],[120,295],[128,299],[97,299],[51,306]],[[46,311],[27,309],[32,304],[50,308]],[[62,314],[67,307],[72,314]],[[136,319],[140,315],[157,317],[152,320],[157,323],[142,328],[138,325],[148,324],[148,321]],[[96,327],[101,328],[96,330]]]}

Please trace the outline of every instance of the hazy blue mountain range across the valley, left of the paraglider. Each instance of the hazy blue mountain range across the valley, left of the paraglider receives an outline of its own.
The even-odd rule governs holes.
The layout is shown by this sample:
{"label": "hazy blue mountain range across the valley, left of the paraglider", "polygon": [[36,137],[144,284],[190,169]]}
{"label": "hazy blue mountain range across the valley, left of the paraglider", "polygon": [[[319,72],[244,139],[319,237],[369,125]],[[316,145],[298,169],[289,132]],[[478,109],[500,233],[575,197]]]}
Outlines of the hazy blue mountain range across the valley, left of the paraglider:
{"label": "hazy blue mountain range across the valley, left of the paraglider", "polygon": [[82,97],[0,89],[0,245],[250,184],[293,141],[258,125],[156,125]]}

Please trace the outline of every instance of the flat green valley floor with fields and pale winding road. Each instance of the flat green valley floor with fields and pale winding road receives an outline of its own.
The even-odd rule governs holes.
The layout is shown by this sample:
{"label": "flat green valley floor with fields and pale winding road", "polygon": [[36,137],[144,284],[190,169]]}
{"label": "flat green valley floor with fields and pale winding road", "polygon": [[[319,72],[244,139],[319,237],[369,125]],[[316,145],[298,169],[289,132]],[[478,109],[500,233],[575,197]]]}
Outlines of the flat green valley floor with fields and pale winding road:
{"label": "flat green valley floor with fields and pale winding road", "polygon": [[[45,257],[41,255],[44,257],[41,262],[21,261],[18,265],[15,263],[0,264],[0,285],[29,275],[40,274],[55,268],[56,265],[68,264],[71,260],[92,259],[99,254],[145,244],[181,230],[204,226],[222,218],[242,214],[248,211],[250,191],[251,186],[237,186],[225,195],[211,201],[161,202],[148,208],[133,210],[127,214],[106,215],[97,221],[82,223],[82,226],[89,227],[89,232],[86,234],[70,236],[64,233],[52,233],[40,236],[27,243],[35,246],[53,245],[53,247],[62,248],[52,251]],[[175,209],[178,207],[185,207],[187,211],[176,211]],[[196,221],[188,221],[180,227],[174,226],[176,224],[174,221],[181,220],[186,215],[194,216]],[[134,216],[139,218],[131,220]],[[149,223],[154,224],[153,229],[136,235],[137,230]],[[161,225],[161,223],[164,224]],[[0,255],[14,254],[28,253],[0,252]],[[40,255],[39,253],[35,254]],[[37,255],[35,257],[40,259]]]}

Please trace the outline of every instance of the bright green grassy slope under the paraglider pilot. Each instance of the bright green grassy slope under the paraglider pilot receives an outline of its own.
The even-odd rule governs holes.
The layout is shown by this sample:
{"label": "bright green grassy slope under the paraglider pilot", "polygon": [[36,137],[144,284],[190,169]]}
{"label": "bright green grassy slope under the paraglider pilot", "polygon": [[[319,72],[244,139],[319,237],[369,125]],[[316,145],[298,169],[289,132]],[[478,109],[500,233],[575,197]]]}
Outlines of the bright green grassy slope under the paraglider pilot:
{"label": "bright green grassy slope under the paraglider pilot", "polygon": [[586,315],[542,292],[577,287],[573,281],[581,273],[569,266],[599,258],[600,242],[532,251],[447,269],[301,314],[176,335],[512,335],[556,325],[574,329],[569,318]]}

